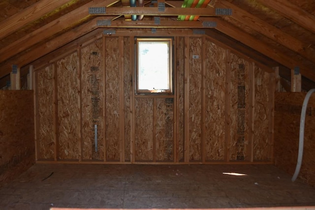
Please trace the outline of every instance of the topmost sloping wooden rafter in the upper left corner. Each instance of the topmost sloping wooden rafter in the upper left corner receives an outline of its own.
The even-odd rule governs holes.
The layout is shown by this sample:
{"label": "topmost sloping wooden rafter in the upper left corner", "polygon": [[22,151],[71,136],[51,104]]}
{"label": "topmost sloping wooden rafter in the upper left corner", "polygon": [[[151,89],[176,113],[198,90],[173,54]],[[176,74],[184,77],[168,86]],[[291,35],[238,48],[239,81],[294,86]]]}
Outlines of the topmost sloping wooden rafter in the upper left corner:
{"label": "topmost sloping wooden rafter in the upper left corner", "polygon": [[0,39],[66,3],[69,3],[69,0],[40,0],[34,3],[0,23]]}

